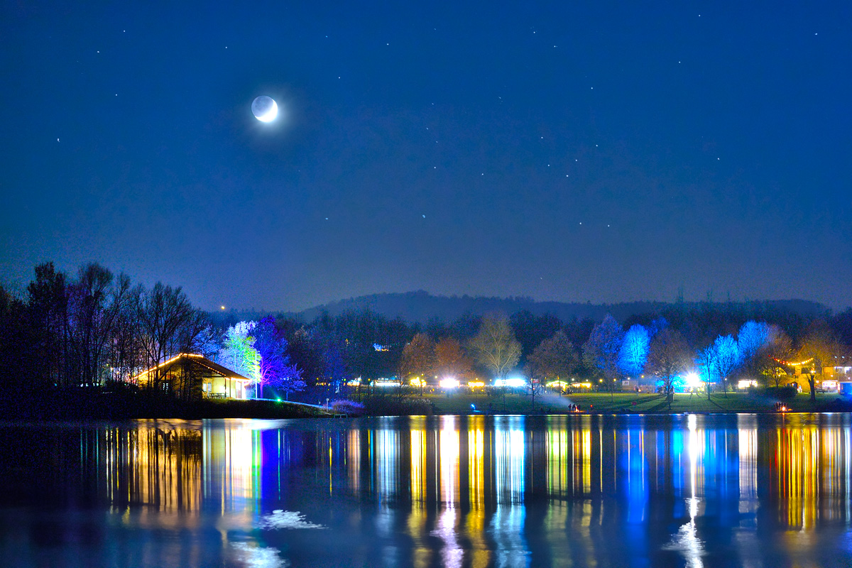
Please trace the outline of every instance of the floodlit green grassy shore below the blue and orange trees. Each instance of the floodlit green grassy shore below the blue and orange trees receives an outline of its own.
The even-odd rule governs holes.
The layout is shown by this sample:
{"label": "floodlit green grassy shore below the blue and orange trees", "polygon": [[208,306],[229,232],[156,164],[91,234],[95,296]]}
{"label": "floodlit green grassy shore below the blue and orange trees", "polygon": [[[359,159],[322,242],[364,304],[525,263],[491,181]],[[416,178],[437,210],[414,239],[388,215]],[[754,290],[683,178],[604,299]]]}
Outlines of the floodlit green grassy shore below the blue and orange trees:
{"label": "floodlit green grassy shore below the blue and orange trees", "polygon": [[[551,414],[567,412],[569,404],[577,404],[583,412],[591,413],[712,413],[712,412],[773,412],[775,399],[760,393],[675,394],[666,404],[661,394],[636,393],[579,393],[559,396],[547,393],[536,396],[535,404],[525,394],[507,393],[489,396],[486,393],[434,393],[424,397],[435,414],[470,414],[475,410],[493,414]],[[837,394],[817,394],[811,403],[809,394],[797,394],[784,404],[792,412],[849,411],[852,404]]]}

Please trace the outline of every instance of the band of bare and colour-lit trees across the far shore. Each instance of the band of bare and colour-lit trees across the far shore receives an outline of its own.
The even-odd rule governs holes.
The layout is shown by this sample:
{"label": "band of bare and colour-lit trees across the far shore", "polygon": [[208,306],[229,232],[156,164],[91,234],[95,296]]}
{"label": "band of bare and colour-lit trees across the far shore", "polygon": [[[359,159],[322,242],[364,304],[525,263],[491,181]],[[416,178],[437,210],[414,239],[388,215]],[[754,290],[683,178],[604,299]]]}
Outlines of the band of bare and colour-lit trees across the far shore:
{"label": "band of bare and colour-lit trees across the far shore", "polygon": [[644,373],[671,393],[694,369],[727,391],[740,376],[780,386],[792,359],[810,361],[813,392],[823,368],[847,360],[850,345],[852,309],[815,318],[760,302],[671,304],[623,322],[521,311],[418,324],[367,310],[240,322],[193,307],[179,286],[132,284],[98,264],[69,276],[45,263],[25,293],[0,288],[0,382],[18,393],[132,384],[177,353],[200,353],[250,376],[259,394],[268,386],[313,402],[381,377],[429,384],[516,375],[534,395],[550,380],[615,390]]}

